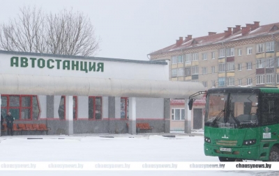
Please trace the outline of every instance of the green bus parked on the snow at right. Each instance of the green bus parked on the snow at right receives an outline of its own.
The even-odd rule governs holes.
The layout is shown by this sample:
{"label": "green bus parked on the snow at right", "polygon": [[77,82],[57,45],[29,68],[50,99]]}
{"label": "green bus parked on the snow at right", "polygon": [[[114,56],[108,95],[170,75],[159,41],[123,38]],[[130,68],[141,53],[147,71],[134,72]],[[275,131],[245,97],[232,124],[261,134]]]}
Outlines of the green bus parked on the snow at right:
{"label": "green bus parked on the snow at right", "polygon": [[279,161],[279,88],[209,89],[204,154],[220,161]]}

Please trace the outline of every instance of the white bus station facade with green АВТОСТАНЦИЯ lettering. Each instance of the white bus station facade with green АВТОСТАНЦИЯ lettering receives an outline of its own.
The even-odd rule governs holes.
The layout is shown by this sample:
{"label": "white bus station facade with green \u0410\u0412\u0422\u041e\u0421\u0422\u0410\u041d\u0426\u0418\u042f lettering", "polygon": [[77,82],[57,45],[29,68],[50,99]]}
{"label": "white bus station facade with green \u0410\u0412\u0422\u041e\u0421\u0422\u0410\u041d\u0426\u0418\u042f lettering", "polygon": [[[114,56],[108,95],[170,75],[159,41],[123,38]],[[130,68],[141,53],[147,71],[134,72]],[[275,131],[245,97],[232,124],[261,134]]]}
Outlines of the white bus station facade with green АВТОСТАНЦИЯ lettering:
{"label": "white bus station facade with green \u0410\u0412\u0422\u041e\u0421\u0422\u0410\u041d\u0426\u0418\u042f lettering", "polygon": [[[169,131],[167,99],[187,97],[202,85],[172,83],[168,70],[167,61],[0,51],[0,93],[6,101],[2,114],[16,112],[16,124],[47,124],[49,134],[127,133],[126,123],[133,134],[137,121],[149,122],[155,132]],[[24,113],[36,114],[33,105],[25,107],[22,100],[34,103],[34,96],[38,118],[23,119]],[[125,107],[120,96],[126,98]],[[22,102],[13,105],[14,99]]]}

